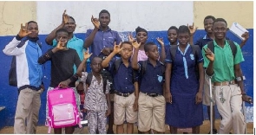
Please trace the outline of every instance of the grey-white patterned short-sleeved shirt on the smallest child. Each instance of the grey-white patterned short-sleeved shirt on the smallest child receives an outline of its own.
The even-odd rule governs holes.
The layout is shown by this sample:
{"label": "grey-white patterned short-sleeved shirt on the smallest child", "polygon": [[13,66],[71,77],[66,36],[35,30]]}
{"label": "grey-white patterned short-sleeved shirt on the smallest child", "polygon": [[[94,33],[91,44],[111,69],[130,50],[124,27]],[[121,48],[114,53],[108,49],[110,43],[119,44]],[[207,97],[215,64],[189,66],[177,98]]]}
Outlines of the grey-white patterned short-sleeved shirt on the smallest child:
{"label": "grey-white patterned short-sleeved shirt on the smallest child", "polygon": [[[86,78],[88,73],[82,72],[82,82],[83,85],[86,86]],[[108,84],[108,82],[107,82]],[[109,93],[109,85],[106,85],[106,93]],[[84,101],[84,108],[87,110],[93,111],[106,111],[108,110],[108,104],[106,95],[103,92],[103,80],[101,83],[98,83],[95,76],[91,80],[91,84],[88,89],[85,91],[85,101]]]}

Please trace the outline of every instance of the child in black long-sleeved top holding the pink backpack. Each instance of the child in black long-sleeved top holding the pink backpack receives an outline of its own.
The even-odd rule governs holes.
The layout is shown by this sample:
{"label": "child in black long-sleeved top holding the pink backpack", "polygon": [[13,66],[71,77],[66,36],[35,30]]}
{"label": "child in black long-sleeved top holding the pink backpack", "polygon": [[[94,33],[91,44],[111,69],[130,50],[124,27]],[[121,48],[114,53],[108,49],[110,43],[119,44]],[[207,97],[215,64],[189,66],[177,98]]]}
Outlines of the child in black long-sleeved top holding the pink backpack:
{"label": "child in black long-sleeved top holding the pink backpack", "polygon": [[[50,48],[44,55],[39,57],[38,63],[43,64],[46,61],[51,61],[51,80],[48,92],[55,87],[72,87],[75,91],[76,105],[80,105],[78,94],[75,90],[75,80],[78,79],[77,74],[74,74],[73,66],[76,67],[81,63],[75,49],[67,48],[68,42],[67,29],[58,29],[56,31],[56,48]],[[46,103],[46,117],[48,118],[48,102]],[[65,133],[73,133],[75,126],[65,127]],[[62,133],[62,128],[55,128],[56,134]]]}

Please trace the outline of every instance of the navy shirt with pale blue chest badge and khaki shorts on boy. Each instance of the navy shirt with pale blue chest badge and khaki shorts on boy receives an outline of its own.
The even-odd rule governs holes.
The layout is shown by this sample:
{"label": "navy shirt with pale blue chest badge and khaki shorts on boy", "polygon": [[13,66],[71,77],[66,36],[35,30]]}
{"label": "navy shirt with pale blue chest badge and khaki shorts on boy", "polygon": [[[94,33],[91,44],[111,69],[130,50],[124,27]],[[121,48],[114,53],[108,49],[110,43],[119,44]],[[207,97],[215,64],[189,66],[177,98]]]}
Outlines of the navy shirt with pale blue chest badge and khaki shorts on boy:
{"label": "navy shirt with pale blue chest badge and khaki shorts on boy", "polygon": [[[138,62],[139,72],[143,61]],[[165,132],[165,110],[166,100],[163,96],[162,85],[164,73],[160,61],[156,61],[155,67],[147,60],[147,69],[141,75],[139,93],[138,130],[148,132],[153,129],[157,132]]]}

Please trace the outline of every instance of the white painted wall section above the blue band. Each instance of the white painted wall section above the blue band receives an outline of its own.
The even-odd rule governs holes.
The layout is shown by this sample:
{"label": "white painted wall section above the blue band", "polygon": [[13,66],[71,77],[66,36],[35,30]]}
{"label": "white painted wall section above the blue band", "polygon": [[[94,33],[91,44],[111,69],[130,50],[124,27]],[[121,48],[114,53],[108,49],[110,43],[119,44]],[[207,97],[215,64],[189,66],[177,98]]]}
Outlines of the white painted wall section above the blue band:
{"label": "white painted wall section above the blue band", "polygon": [[149,31],[167,30],[174,25],[193,23],[194,2],[151,1],[151,2],[37,2],[37,23],[40,34],[49,34],[62,22],[63,10],[75,18],[77,24],[75,33],[84,33],[93,29],[90,22],[93,15],[98,17],[101,10],[108,10],[111,15],[109,27],[119,32],[135,31],[141,26]]}

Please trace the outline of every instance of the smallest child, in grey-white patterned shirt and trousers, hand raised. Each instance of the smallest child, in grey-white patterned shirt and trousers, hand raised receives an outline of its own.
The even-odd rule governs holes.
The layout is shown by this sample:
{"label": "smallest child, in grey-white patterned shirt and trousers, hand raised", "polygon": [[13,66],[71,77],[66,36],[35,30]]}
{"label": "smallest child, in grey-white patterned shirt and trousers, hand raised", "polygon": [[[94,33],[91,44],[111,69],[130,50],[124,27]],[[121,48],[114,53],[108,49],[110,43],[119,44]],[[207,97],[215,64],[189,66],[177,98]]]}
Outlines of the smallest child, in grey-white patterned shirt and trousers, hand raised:
{"label": "smallest child, in grey-white patterned shirt and trousers, hand raised", "polygon": [[[92,54],[90,54],[92,55]],[[87,111],[89,134],[95,134],[96,130],[100,134],[106,134],[107,117],[111,113],[109,85],[104,86],[102,78],[102,58],[94,57],[90,67],[92,69],[92,78],[89,84],[88,73],[82,72],[82,68],[86,65],[87,59],[90,57],[89,49],[84,53],[84,60],[77,68],[76,74],[82,73],[82,82],[86,86],[84,109]],[[107,82],[108,83],[108,82]],[[104,92],[104,87],[106,92]]]}

